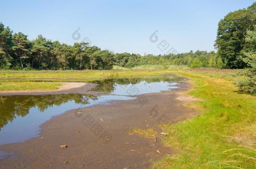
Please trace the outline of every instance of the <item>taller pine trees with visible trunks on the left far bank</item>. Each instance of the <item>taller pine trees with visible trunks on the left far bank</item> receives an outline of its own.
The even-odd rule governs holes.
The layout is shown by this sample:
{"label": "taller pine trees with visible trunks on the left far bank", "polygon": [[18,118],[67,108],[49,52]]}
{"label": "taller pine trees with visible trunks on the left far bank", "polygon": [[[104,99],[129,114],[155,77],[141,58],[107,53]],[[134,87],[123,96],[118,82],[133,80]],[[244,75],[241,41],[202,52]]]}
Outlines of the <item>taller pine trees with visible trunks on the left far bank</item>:
{"label": "taller pine trees with visible trunks on the left far bank", "polygon": [[2,69],[110,69],[114,54],[88,43],[68,45],[38,35],[14,33],[0,23],[0,68]]}

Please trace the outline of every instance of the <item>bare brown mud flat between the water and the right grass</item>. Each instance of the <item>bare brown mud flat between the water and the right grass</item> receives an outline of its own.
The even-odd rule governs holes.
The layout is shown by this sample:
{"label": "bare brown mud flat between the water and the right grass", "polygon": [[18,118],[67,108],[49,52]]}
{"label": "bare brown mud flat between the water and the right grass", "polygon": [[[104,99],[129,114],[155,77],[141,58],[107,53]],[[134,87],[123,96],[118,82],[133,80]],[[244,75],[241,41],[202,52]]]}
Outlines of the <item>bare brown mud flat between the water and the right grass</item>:
{"label": "bare brown mud flat between the water and the right grass", "polygon": [[[134,100],[67,111],[44,123],[38,138],[0,146],[0,151],[14,152],[0,159],[0,168],[148,169],[152,160],[175,153],[161,144],[164,136],[159,125],[196,115],[183,105],[191,99],[176,99],[190,84],[183,81],[179,86]],[[128,134],[135,127],[153,127],[157,141]]]}

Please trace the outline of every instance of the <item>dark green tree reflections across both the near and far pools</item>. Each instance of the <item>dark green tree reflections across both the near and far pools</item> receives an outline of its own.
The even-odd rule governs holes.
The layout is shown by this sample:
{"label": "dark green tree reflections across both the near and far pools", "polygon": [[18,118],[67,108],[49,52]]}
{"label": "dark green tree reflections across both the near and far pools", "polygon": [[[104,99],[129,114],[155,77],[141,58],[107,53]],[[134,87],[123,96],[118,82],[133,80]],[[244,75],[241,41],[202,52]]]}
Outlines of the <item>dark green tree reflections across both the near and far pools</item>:
{"label": "dark green tree reflections across both the near and far pools", "polygon": [[[99,84],[94,90],[112,93],[116,85],[129,85],[137,84],[142,81],[146,83],[154,82],[173,82],[179,81],[181,78],[172,76],[150,76],[145,81],[145,77],[131,77],[131,78],[108,78],[104,80],[91,81],[92,83]],[[88,104],[89,100],[97,100],[94,95],[82,95],[82,94],[60,94],[60,95],[26,95],[26,96],[1,96],[0,98],[0,131],[1,129],[12,122],[16,117],[24,117],[29,114],[29,110],[33,107],[38,108],[40,112],[44,112],[50,107],[60,106],[68,101],[74,101],[75,103]]]}

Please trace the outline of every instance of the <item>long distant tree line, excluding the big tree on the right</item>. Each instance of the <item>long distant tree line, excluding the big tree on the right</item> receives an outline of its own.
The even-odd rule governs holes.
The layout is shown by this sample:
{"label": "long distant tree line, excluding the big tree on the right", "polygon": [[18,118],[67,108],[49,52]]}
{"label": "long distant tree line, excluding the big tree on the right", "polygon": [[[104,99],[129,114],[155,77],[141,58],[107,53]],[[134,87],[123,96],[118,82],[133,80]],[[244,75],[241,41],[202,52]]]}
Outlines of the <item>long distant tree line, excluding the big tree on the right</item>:
{"label": "long distant tree line, excluding the big tree on the right", "polygon": [[0,68],[1,69],[50,69],[84,70],[111,69],[113,65],[132,68],[140,65],[187,65],[191,68],[223,68],[221,58],[214,51],[190,51],[168,55],[140,55],[113,53],[90,46],[86,42],[68,45],[38,35],[29,40],[27,35],[12,30],[0,23]]}

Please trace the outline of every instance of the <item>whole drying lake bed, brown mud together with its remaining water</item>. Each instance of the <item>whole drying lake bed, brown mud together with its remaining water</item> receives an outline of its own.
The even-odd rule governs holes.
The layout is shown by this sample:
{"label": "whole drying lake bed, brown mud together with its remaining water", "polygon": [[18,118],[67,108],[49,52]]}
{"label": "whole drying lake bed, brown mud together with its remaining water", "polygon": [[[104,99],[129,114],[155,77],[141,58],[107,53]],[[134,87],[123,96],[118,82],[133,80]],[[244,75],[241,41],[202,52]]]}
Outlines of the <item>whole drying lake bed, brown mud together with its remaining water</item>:
{"label": "whole drying lake bed, brown mud together with its remaining water", "polygon": [[[86,94],[80,87],[78,93],[1,96],[3,166],[148,167],[150,159],[172,151],[160,141],[129,131],[157,128],[193,114],[185,113],[187,108],[175,99],[177,92],[189,86],[181,77],[110,78],[91,83],[97,85]],[[61,149],[58,144],[68,147]]]}

